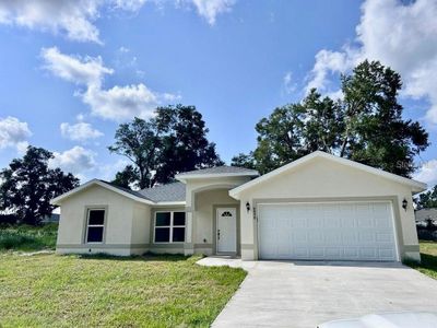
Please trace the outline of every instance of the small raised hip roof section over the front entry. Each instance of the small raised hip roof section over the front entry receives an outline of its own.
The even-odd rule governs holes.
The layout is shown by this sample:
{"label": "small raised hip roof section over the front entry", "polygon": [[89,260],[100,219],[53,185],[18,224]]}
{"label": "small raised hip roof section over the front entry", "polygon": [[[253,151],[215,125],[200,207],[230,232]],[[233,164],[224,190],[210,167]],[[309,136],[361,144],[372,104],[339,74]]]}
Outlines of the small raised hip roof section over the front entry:
{"label": "small raised hip roof section over the front entry", "polygon": [[188,178],[210,178],[210,177],[224,177],[224,176],[259,176],[258,171],[239,166],[215,166],[194,171],[188,171],[176,175],[178,180]]}

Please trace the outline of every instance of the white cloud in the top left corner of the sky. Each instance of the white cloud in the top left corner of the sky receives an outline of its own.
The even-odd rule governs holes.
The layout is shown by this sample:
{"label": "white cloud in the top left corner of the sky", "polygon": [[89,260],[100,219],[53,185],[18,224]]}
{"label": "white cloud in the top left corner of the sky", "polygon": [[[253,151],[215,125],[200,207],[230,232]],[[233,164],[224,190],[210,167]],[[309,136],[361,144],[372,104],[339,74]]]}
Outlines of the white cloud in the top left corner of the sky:
{"label": "white cloud in the top left corner of the sky", "polygon": [[101,0],[5,0],[0,2],[0,23],[62,33],[72,40],[101,43],[93,21],[98,17],[102,3]]}

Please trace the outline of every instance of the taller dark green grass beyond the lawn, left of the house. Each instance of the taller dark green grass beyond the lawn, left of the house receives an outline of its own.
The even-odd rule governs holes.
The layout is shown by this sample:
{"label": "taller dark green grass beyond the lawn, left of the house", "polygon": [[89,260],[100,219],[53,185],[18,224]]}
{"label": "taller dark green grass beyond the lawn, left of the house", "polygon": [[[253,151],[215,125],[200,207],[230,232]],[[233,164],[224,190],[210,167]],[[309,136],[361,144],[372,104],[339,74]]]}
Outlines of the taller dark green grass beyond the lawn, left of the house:
{"label": "taller dark green grass beyond the lawn, left of the house", "polygon": [[55,249],[57,233],[57,223],[0,226],[0,251]]}

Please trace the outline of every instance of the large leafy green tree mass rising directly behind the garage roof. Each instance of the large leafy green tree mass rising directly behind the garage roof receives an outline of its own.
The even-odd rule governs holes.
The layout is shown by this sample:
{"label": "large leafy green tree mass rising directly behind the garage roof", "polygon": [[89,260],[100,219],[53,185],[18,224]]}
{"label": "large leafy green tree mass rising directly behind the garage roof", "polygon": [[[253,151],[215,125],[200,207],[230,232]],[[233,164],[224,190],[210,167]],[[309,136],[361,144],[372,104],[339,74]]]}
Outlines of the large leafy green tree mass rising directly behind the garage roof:
{"label": "large leafy green tree mass rising directly behind the garage roof", "polygon": [[311,90],[300,103],[275,108],[257,124],[253,162],[261,174],[316,150],[402,176],[414,172],[414,156],[429,145],[428,133],[402,118],[401,77],[366,60],[341,82],[342,99]]}

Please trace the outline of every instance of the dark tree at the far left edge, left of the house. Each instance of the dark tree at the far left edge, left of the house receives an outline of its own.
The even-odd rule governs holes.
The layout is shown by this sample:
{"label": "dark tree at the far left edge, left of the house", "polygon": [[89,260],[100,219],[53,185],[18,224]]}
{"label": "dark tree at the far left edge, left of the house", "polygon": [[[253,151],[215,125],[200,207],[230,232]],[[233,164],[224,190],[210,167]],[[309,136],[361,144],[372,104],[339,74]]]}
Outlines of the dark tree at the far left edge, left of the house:
{"label": "dark tree at the far left edge, left of the house", "polygon": [[38,224],[51,214],[50,199],[79,185],[79,179],[60,168],[49,168],[49,151],[28,147],[23,159],[15,159],[0,173],[0,210],[15,213],[20,223]]}

